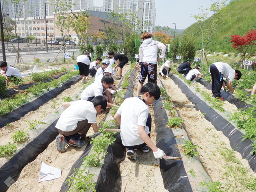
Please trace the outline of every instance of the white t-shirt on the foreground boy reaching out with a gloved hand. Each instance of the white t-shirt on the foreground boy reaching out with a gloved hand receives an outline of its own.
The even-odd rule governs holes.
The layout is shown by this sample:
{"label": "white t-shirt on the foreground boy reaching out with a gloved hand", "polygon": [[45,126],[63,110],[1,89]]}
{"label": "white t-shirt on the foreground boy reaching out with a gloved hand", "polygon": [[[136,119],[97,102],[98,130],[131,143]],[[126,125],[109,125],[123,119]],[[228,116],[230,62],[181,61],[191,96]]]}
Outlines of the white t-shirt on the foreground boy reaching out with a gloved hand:
{"label": "white t-shirt on the foreground boy reaching out with a gloved hand", "polygon": [[148,112],[148,106],[137,97],[128,98],[121,104],[117,113],[121,115],[121,138],[124,146],[144,143],[139,136],[138,126],[145,126],[145,131],[149,133],[146,127]]}

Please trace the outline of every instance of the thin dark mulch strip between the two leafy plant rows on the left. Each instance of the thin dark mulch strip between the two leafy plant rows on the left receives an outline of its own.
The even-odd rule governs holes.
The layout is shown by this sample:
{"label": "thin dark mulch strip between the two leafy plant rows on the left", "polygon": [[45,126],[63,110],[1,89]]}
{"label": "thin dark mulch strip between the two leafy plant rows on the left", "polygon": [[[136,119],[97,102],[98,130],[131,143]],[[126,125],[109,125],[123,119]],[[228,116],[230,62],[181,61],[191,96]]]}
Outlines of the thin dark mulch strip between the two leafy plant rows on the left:
{"label": "thin dark mulch strip between the two leafy plant rows on the left", "polygon": [[[57,76],[52,76],[52,78],[48,78],[44,81],[41,81],[41,83],[46,83],[46,82],[49,82],[49,81],[52,81],[52,79],[58,79],[60,76],[64,75],[66,73],[62,73],[62,74],[59,74]],[[30,87],[33,87],[34,85],[36,85],[38,82],[32,82],[32,83],[29,83],[29,84],[22,84],[22,85],[18,85],[18,88],[11,88],[11,89],[6,89],[6,93],[3,94],[3,95],[0,95],[0,99],[4,99],[6,98],[7,96],[10,96],[10,95],[16,95],[18,94],[19,92],[18,91],[15,91],[14,89],[16,90],[26,90]]]}

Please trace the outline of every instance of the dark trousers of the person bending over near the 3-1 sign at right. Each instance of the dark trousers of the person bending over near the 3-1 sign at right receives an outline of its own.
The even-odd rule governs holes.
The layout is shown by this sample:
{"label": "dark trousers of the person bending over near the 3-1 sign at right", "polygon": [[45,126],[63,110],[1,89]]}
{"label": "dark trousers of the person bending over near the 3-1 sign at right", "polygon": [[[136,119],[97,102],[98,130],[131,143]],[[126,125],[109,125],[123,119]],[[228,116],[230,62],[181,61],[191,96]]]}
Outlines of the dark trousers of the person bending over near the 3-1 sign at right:
{"label": "dark trousers of the person bending over near the 3-1 sign at right", "polygon": [[211,92],[215,97],[221,97],[221,87],[223,84],[223,74],[219,72],[215,65],[210,66]]}

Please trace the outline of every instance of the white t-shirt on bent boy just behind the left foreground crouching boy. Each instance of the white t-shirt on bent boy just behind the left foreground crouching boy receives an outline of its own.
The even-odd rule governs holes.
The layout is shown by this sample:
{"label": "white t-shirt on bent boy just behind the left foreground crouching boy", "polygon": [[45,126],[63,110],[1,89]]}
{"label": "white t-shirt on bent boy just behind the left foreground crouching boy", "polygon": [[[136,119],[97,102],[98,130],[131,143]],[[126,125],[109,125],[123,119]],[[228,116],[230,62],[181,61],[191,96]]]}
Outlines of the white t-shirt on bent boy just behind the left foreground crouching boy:
{"label": "white t-shirt on bent boy just behind the left foreground crouching boy", "polygon": [[103,96],[103,86],[100,81],[94,82],[83,90],[81,94],[81,100],[87,100],[93,96]]}

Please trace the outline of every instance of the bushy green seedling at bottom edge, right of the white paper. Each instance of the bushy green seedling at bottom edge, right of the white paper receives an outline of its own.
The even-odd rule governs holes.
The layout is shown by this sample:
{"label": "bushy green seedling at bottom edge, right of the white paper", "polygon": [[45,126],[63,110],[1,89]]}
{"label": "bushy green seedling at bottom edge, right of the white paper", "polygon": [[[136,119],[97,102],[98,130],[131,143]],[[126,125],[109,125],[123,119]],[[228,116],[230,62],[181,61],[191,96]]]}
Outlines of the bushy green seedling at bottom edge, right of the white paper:
{"label": "bushy green seedling at bottom edge, right of the white paper", "polygon": [[[76,173],[76,176],[73,174],[72,176],[69,176],[69,179],[67,179],[66,183],[69,183],[69,187],[72,184],[72,188],[70,190],[68,190],[68,192],[71,191],[78,191],[78,192],[89,192],[91,190],[93,190],[94,192],[96,192],[95,190],[95,185],[96,182],[93,183],[93,174],[89,174],[89,170],[88,172],[85,171],[85,169],[75,169],[74,168],[74,172]],[[85,174],[85,175],[83,175]]]}

